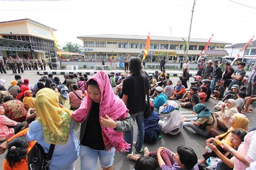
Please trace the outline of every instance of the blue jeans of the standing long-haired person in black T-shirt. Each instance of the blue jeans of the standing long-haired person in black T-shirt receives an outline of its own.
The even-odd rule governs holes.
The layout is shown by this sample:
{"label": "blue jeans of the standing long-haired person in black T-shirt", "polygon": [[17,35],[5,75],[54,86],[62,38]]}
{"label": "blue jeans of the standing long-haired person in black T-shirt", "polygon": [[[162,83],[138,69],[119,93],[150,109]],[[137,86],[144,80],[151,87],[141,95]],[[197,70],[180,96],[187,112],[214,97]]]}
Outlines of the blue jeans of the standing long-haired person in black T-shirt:
{"label": "blue jeans of the standing long-haired person in black T-shirt", "polygon": [[[131,117],[133,117],[133,121],[135,121],[136,119],[136,123],[138,126],[136,148],[137,151],[141,151],[144,142],[144,111],[131,114]],[[125,142],[131,144],[131,148],[129,148],[129,154],[131,154],[131,152],[133,151],[133,128],[129,131],[125,131]]]}

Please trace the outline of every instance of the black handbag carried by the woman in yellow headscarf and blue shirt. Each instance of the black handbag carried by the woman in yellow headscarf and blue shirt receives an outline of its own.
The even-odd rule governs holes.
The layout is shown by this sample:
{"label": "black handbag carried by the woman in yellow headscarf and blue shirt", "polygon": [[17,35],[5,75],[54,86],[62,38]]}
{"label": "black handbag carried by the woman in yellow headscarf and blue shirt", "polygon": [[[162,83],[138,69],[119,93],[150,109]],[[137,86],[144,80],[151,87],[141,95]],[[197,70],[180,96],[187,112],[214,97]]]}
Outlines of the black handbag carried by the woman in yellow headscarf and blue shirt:
{"label": "black handbag carried by the woman in yellow headscarf and blue shirt", "polygon": [[48,170],[49,161],[53,156],[55,144],[51,144],[49,153],[45,154],[43,147],[39,143],[35,143],[33,148],[27,155],[27,165],[30,170]]}

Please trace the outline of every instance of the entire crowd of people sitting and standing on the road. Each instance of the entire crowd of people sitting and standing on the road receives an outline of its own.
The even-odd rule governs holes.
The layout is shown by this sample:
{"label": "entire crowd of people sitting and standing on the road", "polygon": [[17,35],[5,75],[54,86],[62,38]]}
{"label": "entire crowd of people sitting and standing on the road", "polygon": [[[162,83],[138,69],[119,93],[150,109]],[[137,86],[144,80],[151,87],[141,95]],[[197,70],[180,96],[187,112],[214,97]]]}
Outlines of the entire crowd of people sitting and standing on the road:
{"label": "entire crowd of people sitting and standing on the road", "polygon": [[[78,155],[81,169],[96,169],[98,158],[102,169],[113,169],[117,151],[136,161],[136,170],[256,168],[256,128],[248,128],[246,117],[253,113],[249,107],[256,100],[256,63],[246,77],[243,62],[234,71],[228,62],[218,65],[218,61],[209,61],[206,65],[201,60],[188,87],[188,63],[173,85],[165,69],[160,74],[147,73],[139,67],[140,62],[130,59],[130,71],[122,73],[100,71],[90,78],[82,73],[65,75],[63,82],[53,74],[34,85],[19,74],[8,85],[0,79],[0,154],[7,150],[3,169],[27,169],[27,154],[35,140],[46,153],[50,144],[55,144],[50,169],[74,169]],[[133,81],[141,81],[141,86]],[[142,97],[137,99],[133,89],[143,90]],[[144,118],[146,96],[151,115]],[[136,99],[129,101],[133,97]],[[206,106],[210,98],[217,101],[214,110]],[[142,106],[133,110],[131,103],[138,104],[139,99]],[[194,118],[182,117],[180,107],[191,110]],[[136,142],[130,139],[134,121],[138,125]],[[183,128],[206,137],[203,159],[198,160],[188,146],[179,146],[177,152],[165,147],[157,151],[142,148],[143,142],[161,139],[162,131],[177,135]],[[143,156],[133,154],[133,146]]]}

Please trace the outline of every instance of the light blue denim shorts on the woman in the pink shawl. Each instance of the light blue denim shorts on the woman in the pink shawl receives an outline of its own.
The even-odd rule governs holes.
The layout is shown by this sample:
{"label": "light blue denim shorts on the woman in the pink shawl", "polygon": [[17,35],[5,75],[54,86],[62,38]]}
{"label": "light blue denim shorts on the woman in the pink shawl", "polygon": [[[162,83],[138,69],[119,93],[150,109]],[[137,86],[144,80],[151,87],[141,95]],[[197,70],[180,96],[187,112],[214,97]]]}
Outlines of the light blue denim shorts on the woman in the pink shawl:
{"label": "light blue denim shorts on the woman in the pink shawl", "polygon": [[90,147],[80,146],[80,159],[81,159],[81,169],[91,170],[97,168],[97,160],[99,156],[99,163],[101,167],[110,167],[114,162],[115,148],[111,150],[93,150]]}

